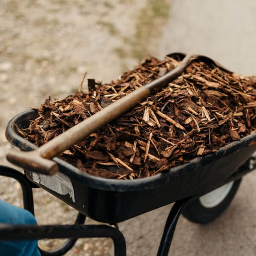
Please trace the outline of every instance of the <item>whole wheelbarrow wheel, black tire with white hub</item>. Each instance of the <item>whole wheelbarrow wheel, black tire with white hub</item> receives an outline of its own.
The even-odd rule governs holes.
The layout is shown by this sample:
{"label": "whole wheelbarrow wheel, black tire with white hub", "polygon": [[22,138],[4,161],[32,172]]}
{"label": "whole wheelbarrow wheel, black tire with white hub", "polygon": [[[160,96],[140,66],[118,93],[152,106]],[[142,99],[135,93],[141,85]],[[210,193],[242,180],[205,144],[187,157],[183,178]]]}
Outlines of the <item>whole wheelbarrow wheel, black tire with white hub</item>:
{"label": "whole wheelbarrow wheel, black tire with white hub", "polygon": [[189,203],[182,215],[189,221],[207,224],[221,215],[229,206],[240,186],[239,180],[231,181]]}

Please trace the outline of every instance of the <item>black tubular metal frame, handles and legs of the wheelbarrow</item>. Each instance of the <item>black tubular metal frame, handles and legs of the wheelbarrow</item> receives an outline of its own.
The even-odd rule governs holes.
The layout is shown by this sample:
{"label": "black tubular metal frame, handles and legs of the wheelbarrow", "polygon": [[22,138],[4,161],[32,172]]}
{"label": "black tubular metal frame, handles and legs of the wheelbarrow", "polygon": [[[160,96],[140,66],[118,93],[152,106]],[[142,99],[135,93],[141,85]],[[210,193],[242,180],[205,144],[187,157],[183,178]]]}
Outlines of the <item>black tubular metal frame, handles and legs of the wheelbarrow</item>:
{"label": "black tubular metal frame, handles and legs of the wheelbarrow", "polygon": [[[253,169],[256,169],[255,158],[248,160],[224,183],[237,180],[246,175],[248,172],[251,172]],[[36,188],[37,186],[35,186],[25,175],[7,166],[0,165],[0,175],[14,178],[20,183],[23,192],[24,209],[27,209],[34,214],[32,187]],[[175,202],[166,220],[157,256],[168,256],[176,224],[180,214],[182,213],[182,209],[191,201],[199,198],[206,192]],[[0,224],[0,241],[68,238],[68,240],[61,247],[54,251],[44,251],[39,248],[42,256],[61,256],[69,251],[79,238],[110,237],[114,243],[115,256],[126,255],[125,238],[121,231],[118,230],[117,225],[115,228],[107,225],[84,225],[84,221],[85,216],[79,212],[74,225]]]}

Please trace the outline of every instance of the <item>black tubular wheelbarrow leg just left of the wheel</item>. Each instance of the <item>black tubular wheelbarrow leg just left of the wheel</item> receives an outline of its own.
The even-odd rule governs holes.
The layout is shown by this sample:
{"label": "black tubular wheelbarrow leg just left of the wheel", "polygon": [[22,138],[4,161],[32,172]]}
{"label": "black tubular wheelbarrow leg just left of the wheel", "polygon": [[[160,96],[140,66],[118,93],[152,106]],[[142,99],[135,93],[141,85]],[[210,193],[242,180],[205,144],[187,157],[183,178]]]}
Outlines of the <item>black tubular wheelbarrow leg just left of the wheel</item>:
{"label": "black tubular wheelbarrow leg just left of the wheel", "polygon": [[191,198],[182,199],[177,201],[169,215],[163,230],[162,239],[158,248],[157,256],[168,256],[169,249],[172,243],[172,238],[175,232],[177,221],[180,217],[182,209],[191,201]]}

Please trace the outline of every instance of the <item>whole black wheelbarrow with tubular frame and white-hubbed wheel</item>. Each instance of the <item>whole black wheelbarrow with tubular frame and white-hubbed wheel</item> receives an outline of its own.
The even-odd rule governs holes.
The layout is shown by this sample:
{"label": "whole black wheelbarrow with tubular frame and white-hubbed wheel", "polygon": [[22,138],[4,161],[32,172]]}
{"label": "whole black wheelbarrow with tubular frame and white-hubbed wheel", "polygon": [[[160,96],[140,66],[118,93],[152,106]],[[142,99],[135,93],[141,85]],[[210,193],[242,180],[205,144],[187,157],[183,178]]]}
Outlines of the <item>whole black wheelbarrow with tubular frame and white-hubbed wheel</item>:
{"label": "whole black wheelbarrow with tubular frame and white-hubbed wheel", "polygon": [[[199,55],[188,58],[182,53],[169,56],[174,55],[179,55],[183,61],[173,70],[171,78],[183,72],[192,59],[212,61]],[[17,132],[17,127],[27,128],[29,121],[37,117],[35,110],[15,116],[6,129],[9,142],[22,151],[37,149]],[[28,163],[22,163],[25,175],[1,166],[1,175],[14,177],[21,183],[25,209],[34,213],[31,188],[41,187],[78,210],[79,214],[76,223],[70,226],[1,225],[0,240],[69,238],[54,252],[41,250],[42,255],[63,255],[80,237],[111,237],[115,255],[125,256],[125,239],[118,230],[118,223],[175,202],[157,253],[158,256],[168,255],[180,214],[197,223],[209,223],[217,218],[232,201],[242,176],[256,168],[255,151],[256,133],[253,133],[189,163],[137,180],[112,180],[89,175],[58,157],[53,158],[54,164],[58,165],[58,172],[53,176],[38,173],[42,169],[33,170]],[[48,169],[49,172],[52,170],[52,167]],[[83,225],[85,216],[115,227]]]}

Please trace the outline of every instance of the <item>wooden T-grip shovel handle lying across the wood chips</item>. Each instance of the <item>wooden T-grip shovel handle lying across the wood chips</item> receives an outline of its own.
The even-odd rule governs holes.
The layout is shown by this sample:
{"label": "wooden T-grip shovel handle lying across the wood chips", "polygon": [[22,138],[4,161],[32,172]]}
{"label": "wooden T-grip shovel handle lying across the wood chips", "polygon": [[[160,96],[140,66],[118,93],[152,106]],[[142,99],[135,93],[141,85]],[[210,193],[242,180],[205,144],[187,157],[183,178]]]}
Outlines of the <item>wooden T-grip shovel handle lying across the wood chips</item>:
{"label": "wooden T-grip shovel handle lying across the wood chips", "polygon": [[32,172],[47,175],[55,174],[58,172],[58,165],[49,159],[52,159],[102,126],[121,116],[149,97],[151,93],[156,92],[160,87],[177,78],[196,57],[197,55],[187,55],[174,70],[134,90],[122,99],[113,102],[111,105],[108,105],[106,108],[73,126],[35,151],[10,151],[6,156],[7,160]]}

